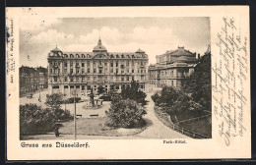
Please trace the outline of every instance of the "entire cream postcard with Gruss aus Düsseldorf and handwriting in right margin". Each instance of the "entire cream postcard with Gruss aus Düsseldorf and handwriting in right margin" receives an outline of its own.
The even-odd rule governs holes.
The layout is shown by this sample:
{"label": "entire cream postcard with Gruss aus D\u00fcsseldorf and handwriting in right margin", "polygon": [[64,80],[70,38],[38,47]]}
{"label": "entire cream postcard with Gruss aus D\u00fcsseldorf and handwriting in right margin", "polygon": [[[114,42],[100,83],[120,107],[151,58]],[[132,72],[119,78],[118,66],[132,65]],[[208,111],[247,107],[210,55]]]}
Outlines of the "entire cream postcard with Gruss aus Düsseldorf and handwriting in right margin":
{"label": "entire cream postcard with Gruss aus D\u00fcsseldorf and handwriting in right margin", "polygon": [[6,12],[8,160],[251,157],[248,6]]}

